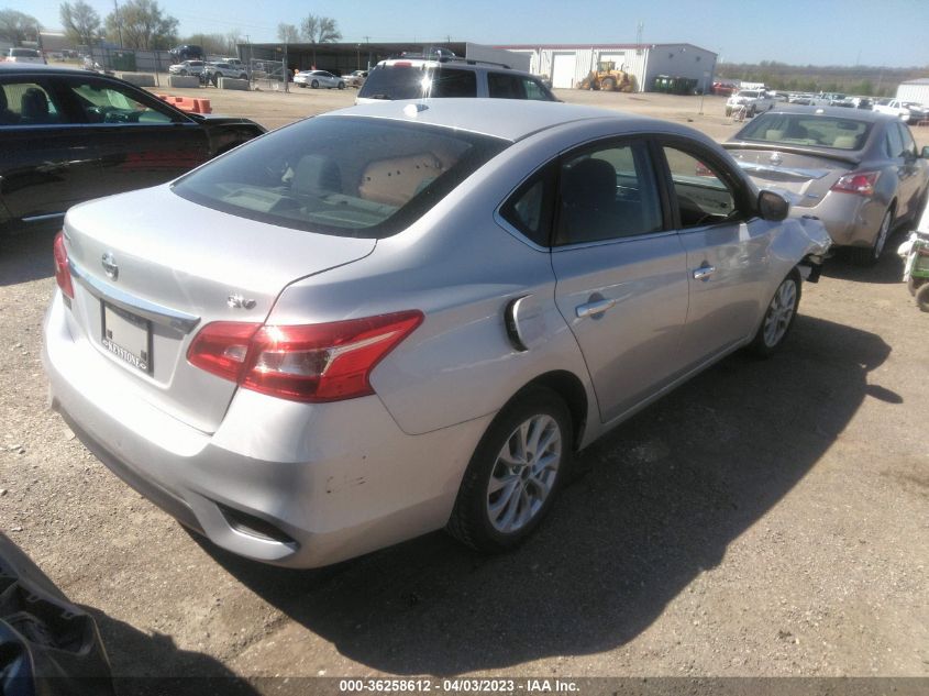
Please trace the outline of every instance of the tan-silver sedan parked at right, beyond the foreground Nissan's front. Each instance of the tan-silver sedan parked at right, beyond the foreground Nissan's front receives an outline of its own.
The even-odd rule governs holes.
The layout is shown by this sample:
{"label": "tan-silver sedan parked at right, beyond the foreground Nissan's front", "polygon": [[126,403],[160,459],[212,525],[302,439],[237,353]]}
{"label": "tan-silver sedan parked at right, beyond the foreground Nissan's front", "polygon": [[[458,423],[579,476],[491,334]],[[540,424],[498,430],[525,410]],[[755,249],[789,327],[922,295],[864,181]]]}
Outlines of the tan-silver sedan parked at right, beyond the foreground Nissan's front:
{"label": "tan-silver sedan parked at right, beyond the foreground Nissan's front", "polygon": [[915,223],[929,195],[929,148],[895,117],[786,107],[752,120],[726,148],[760,187],[782,189],[795,217],[819,218],[853,262],[874,264],[891,231]]}

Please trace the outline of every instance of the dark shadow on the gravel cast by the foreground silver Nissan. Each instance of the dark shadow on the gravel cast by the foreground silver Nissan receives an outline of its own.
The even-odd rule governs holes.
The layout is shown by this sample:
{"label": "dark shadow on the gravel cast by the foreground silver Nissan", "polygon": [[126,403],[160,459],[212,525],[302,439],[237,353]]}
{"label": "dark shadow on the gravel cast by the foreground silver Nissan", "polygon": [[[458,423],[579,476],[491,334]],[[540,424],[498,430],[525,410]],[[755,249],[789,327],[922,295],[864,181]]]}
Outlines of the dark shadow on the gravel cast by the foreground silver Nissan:
{"label": "dark shadow on the gravel cast by the foreground silver Nissan", "polygon": [[[524,545],[484,556],[433,533],[317,571],[223,567],[347,658],[398,674],[505,669],[632,640],[830,448],[869,395],[877,335],[798,317],[768,361],[736,354],[579,457]],[[278,645],[275,650],[280,650]]]}

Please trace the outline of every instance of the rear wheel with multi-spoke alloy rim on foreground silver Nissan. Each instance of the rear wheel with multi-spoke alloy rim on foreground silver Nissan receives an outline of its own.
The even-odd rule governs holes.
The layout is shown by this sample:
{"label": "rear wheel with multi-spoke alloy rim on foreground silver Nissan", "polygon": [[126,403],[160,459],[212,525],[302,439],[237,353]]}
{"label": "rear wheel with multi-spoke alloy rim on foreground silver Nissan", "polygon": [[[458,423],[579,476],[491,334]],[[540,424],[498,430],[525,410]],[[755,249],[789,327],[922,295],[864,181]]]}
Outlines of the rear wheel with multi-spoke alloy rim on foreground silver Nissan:
{"label": "rear wheel with multi-spoke alloy rim on foreground silver Nissan", "polygon": [[530,387],[484,433],[462,479],[446,531],[499,553],[539,526],[565,480],[573,450],[571,413],[554,391]]}

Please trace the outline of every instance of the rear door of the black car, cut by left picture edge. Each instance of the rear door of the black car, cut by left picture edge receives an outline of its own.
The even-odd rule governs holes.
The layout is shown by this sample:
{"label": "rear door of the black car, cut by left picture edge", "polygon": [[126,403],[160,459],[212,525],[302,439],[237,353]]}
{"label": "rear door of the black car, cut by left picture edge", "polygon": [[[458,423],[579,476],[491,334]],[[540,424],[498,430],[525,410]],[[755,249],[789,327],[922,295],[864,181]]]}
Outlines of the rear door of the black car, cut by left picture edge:
{"label": "rear door of the black car, cut by left picture edge", "polygon": [[0,76],[0,199],[12,227],[59,224],[93,198],[99,157],[53,76]]}

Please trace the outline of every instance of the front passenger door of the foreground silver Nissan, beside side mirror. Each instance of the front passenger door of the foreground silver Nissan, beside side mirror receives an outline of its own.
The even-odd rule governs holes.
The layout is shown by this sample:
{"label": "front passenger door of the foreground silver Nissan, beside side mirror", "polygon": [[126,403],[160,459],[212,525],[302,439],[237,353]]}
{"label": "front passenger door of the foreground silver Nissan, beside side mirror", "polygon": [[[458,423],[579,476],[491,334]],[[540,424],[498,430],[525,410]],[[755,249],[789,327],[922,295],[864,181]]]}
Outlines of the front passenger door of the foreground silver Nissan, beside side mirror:
{"label": "front passenger door of the foreground silver Nissan, beside side mirror", "polygon": [[689,309],[682,352],[693,369],[755,331],[771,280],[772,225],[753,217],[741,177],[709,148],[664,139],[661,150],[687,253]]}

